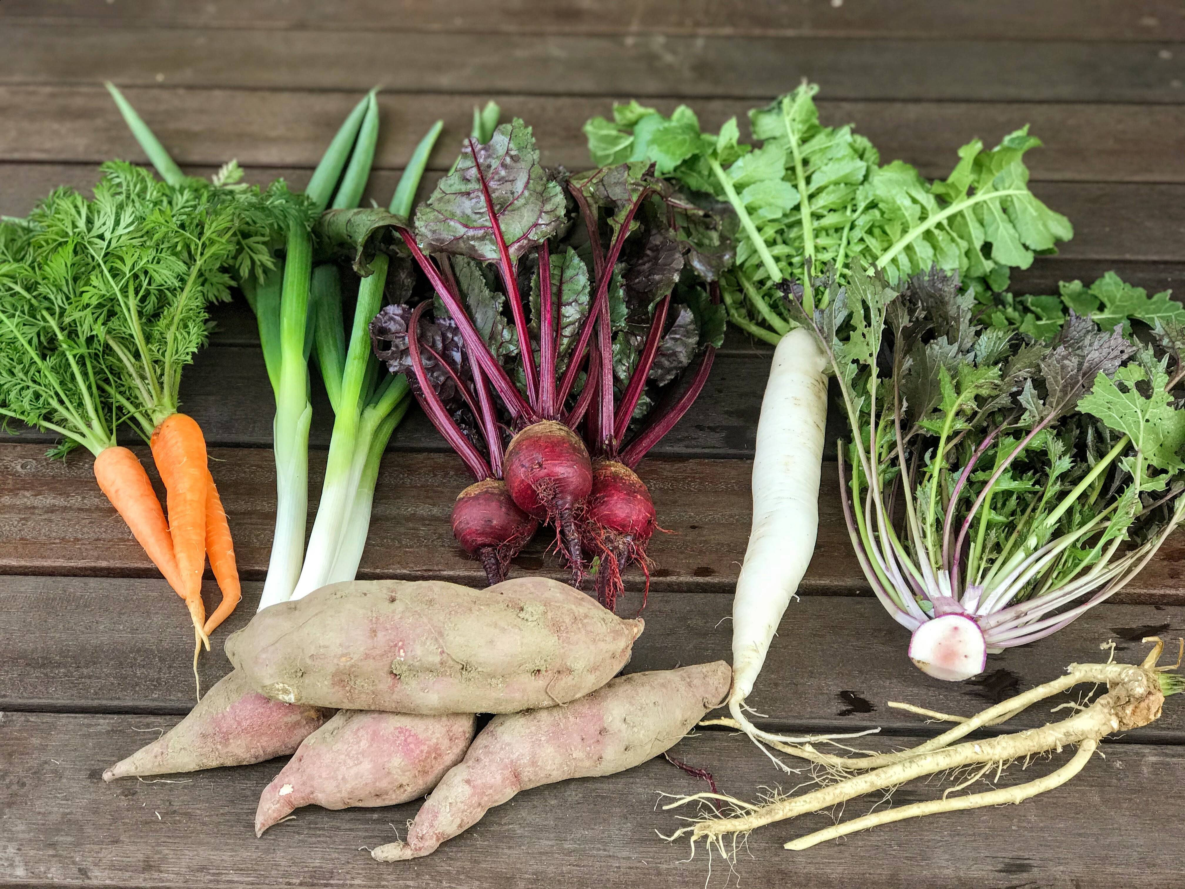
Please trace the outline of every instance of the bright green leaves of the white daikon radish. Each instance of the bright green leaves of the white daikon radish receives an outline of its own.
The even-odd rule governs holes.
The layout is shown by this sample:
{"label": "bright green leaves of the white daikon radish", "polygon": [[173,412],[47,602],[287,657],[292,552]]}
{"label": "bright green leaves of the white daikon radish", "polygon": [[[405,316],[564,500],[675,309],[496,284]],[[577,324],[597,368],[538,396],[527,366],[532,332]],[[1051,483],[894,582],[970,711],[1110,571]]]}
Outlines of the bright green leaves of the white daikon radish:
{"label": "bright green leaves of the white daikon radish", "polygon": [[736,119],[703,133],[686,105],[666,117],[630,102],[615,105],[611,121],[584,126],[595,162],[653,161],[659,174],[731,205],[745,237],[723,292],[730,319],[752,335],[776,343],[794,325],[776,284],[812,269],[837,268],[843,283],[857,261],[895,283],[936,264],[995,293],[1010,269],[1072,236],[1065,217],[1029,191],[1024,154],[1040,141],[1027,127],[991,151],[968,142],[950,174],[929,183],[902,161],[882,166],[851,127],[822,126],[816,92],[803,83],[752,109],[760,146],[741,141]]}

